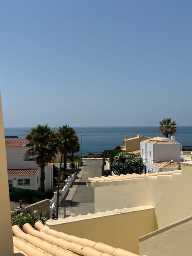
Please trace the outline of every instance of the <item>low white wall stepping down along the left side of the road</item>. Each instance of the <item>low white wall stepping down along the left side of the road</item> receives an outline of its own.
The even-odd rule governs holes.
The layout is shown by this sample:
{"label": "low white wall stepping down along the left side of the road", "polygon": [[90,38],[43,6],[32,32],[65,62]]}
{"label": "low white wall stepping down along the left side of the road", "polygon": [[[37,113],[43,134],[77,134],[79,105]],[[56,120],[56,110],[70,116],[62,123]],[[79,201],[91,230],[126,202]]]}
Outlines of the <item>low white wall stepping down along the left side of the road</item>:
{"label": "low white wall stepping down along the left side of the road", "polygon": [[[66,185],[60,191],[59,204],[63,200],[64,196],[67,194],[68,189],[70,188],[73,181],[76,179],[76,176],[77,176],[77,173],[75,172],[71,177],[68,176],[68,178],[65,180]],[[57,192],[54,192],[53,198],[50,200],[50,218],[52,217],[52,211],[56,206],[56,202],[57,202]]]}

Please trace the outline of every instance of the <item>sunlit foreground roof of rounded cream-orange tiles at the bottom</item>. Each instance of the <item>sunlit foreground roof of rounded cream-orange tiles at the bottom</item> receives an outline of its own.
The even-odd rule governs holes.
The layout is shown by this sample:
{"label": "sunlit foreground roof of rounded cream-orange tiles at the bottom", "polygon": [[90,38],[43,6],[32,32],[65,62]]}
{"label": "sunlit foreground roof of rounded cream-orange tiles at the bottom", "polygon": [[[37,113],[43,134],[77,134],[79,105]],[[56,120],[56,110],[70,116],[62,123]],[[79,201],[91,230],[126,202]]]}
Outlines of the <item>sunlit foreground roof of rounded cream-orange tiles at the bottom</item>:
{"label": "sunlit foreground roof of rounded cream-orange tiles at the bottom", "polygon": [[136,256],[132,252],[114,248],[86,238],[79,238],[45,228],[41,222],[36,222],[35,230],[26,223],[23,231],[12,226],[14,253],[28,256]]}

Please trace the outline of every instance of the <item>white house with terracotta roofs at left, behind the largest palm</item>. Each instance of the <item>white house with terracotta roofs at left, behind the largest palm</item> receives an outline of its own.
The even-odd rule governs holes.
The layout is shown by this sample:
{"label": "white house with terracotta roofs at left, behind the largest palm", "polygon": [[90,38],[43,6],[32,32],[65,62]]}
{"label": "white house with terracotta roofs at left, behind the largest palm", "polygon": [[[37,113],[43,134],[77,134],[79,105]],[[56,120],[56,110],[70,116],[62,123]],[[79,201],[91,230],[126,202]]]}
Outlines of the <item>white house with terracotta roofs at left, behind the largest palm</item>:
{"label": "white house with terracotta roofs at left, behind the largest palm", "polygon": [[[28,156],[25,138],[5,138],[9,185],[17,188],[38,190],[40,188],[40,167],[35,156]],[[53,166],[45,167],[45,190],[53,187]]]}

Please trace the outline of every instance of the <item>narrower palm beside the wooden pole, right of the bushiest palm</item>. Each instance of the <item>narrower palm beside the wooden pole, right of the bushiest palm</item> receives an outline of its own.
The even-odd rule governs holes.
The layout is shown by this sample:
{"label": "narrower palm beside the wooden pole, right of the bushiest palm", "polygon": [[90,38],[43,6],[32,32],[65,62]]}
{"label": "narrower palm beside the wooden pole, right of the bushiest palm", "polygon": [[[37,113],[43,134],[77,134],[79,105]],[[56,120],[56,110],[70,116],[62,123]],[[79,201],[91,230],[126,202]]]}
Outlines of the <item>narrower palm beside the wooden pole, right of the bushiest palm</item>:
{"label": "narrower palm beside the wooden pole, right of the bushiest palm", "polygon": [[72,153],[76,145],[78,145],[78,137],[74,128],[66,124],[63,126],[59,126],[58,138],[60,140],[60,151],[63,150],[65,173],[67,170],[67,154]]}

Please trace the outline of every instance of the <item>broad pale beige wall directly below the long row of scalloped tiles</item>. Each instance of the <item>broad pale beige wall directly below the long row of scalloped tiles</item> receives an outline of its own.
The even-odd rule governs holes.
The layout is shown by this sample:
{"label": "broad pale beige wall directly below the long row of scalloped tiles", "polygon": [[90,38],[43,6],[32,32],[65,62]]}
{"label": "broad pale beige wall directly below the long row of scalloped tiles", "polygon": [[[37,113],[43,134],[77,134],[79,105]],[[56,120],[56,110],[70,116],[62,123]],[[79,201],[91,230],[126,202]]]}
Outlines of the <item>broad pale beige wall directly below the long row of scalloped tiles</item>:
{"label": "broad pale beige wall directly below the long row of scalloped tiles", "polygon": [[183,163],[181,167],[182,173],[172,175],[165,172],[144,178],[96,182],[95,212],[150,205],[155,208],[159,227],[190,216],[192,163]]}

